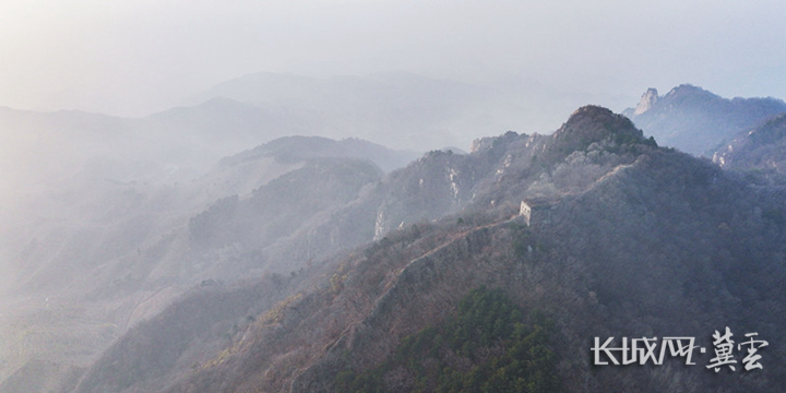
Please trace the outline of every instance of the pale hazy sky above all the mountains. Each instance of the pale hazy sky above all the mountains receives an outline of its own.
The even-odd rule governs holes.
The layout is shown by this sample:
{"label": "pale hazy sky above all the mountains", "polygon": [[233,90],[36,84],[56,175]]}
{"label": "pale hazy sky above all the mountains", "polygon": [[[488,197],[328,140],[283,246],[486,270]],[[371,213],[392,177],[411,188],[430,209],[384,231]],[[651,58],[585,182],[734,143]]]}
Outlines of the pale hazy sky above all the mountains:
{"label": "pale hazy sky above all the mountains", "polygon": [[141,116],[259,71],[786,98],[784,21],[784,0],[0,0],[0,106]]}

